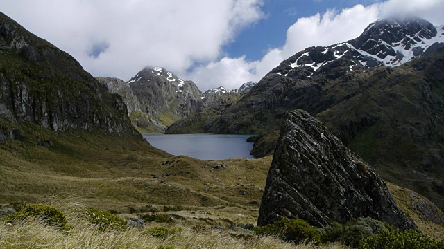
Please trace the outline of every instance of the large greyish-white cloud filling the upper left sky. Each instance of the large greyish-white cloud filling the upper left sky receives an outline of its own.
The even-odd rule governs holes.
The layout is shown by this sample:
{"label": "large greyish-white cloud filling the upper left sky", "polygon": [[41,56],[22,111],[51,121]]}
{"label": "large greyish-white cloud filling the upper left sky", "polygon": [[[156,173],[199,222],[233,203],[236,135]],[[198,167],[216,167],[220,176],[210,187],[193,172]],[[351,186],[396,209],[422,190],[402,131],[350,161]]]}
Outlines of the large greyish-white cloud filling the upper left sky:
{"label": "large greyish-white cloud filling the upper left sky", "polygon": [[184,74],[215,61],[240,30],[264,17],[261,6],[262,0],[15,0],[1,11],[92,75],[128,80],[148,64]]}

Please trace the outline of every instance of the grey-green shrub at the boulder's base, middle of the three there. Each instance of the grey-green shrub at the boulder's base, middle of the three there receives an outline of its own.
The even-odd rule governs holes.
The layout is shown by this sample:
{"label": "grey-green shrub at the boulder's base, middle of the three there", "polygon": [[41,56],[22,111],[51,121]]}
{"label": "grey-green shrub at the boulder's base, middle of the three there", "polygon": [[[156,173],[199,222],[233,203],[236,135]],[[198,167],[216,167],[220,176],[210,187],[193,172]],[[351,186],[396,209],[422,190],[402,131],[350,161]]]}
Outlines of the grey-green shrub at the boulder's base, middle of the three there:
{"label": "grey-green shrub at the boulder's base, middle of the three there", "polygon": [[359,246],[359,241],[381,231],[388,231],[381,221],[370,217],[359,217],[356,221],[346,224],[332,223],[323,228],[322,241],[324,243],[339,241],[345,246],[356,248]]}

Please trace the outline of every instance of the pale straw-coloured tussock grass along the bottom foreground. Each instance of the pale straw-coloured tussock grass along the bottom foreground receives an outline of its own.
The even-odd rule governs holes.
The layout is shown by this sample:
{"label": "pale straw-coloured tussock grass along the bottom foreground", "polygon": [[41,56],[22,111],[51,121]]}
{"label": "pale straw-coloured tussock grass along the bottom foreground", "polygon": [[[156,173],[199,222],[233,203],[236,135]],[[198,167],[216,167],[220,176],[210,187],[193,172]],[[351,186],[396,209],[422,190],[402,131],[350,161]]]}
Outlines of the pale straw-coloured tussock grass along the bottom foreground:
{"label": "pale straw-coloured tussock grass along the bottom foreground", "polygon": [[[51,202],[51,201],[50,201]],[[74,210],[84,208],[76,201],[51,204],[58,205],[67,214],[69,228],[46,225],[38,219],[25,219],[15,223],[0,221],[0,248],[345,248],[339,244],[315,246],[312,243],[295,245],[274,237],[248,236],[244,239],[239,232],[228,230],[193,230],[189,226],[174,225],[178,233],[165,237],[153,237],[147,229],[162,224],[146,224],[145,228],[112,230],[88,223]]]}

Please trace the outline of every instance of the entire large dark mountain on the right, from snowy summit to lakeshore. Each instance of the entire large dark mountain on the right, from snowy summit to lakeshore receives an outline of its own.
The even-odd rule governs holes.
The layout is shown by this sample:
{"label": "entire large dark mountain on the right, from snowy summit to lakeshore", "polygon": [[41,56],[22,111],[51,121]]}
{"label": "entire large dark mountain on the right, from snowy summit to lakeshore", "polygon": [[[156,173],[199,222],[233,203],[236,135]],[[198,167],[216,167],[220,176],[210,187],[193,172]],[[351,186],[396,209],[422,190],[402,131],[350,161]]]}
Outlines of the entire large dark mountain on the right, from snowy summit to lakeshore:
{"label": "entire large dark mountain on the right, from snowy summit to lakeshore", "polygon": [[[262,133],[253,147],[260,157],[273,152],[284,113],[303,109],[384,180],[409,187],[444,209],[442,33],[421,19],[376,21],[357,39],[307,48],[284,60],[236,104],[219,116],[200,116],[191,130]],[[386,53],[379,53],[382,45],[377,44]],[[389,48],[404,55],[424,50],[405,62],[393,59]],[[382,62],[388,66],[378,66]],[[186,120],[171,125],[169,132],[189,131]]]}

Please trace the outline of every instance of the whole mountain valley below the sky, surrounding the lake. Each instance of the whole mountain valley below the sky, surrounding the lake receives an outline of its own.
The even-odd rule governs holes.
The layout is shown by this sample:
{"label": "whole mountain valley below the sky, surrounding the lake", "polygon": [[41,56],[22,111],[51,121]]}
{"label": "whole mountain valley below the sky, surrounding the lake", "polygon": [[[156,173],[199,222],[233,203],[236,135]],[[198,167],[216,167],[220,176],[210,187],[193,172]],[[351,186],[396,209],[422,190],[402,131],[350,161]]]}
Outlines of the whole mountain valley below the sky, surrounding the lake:
{"label": "whole mountain valley below the sky, surrounding the lake", "polygon": [[[439,248],[443,36],[379,20],[202,93],[157,66],[93,77],[0,12],[0,247],[356,248],[406,230]],[[146,132],[256,134],[256,158],[173,156]]]}

